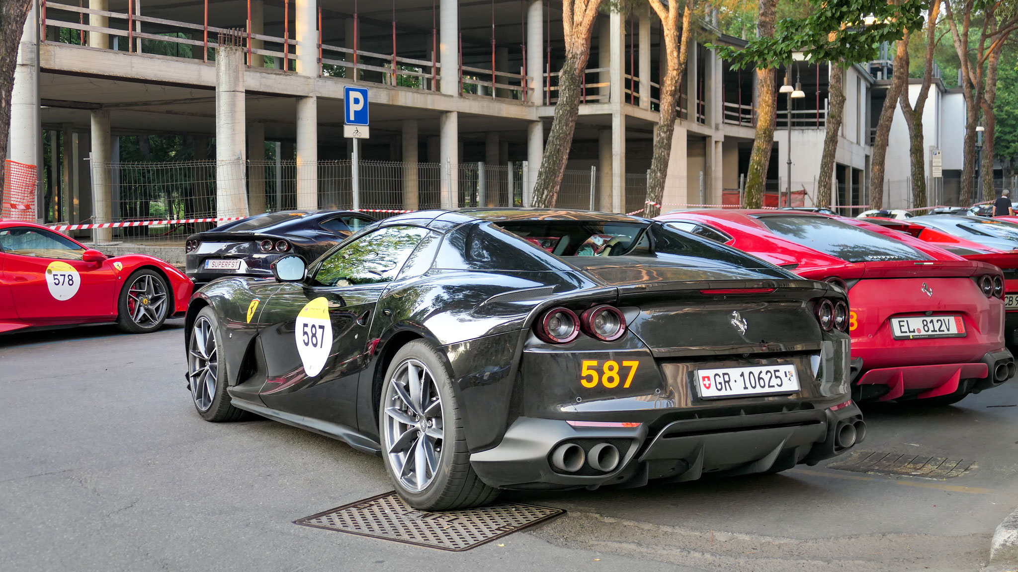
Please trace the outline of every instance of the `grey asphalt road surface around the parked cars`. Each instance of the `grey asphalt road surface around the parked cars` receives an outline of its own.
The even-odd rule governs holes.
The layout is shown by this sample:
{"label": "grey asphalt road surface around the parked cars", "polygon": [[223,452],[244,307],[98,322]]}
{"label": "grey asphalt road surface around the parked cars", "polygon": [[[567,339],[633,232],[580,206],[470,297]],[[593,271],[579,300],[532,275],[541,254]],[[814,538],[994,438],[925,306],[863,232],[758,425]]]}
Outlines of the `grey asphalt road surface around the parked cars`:
{"label": "grey asphalt road surface around the parked cars", "polygon": [[297,526],[389,491],[380,459],[268,420],[208,423],[182,325],[0,338],[0,570],[978,570],[1018,505],[1018,380],[869,408],[863,449],[974,461],[948,479],[824,465],[507,495],[568,513],[464,553]]}

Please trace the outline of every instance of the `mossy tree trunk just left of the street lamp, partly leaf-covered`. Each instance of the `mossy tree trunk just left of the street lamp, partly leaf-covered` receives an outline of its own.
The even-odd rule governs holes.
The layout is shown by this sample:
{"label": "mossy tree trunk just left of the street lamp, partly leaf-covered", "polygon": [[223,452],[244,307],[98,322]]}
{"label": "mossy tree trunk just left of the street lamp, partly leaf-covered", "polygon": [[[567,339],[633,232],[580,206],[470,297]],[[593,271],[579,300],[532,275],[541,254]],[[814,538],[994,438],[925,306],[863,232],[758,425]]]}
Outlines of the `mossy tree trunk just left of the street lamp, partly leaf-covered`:
{"label": "mossy tree trunk just left of the street lamp, partly leaf-covered", "polygon": [[[778,0],[759,0],[756,20],[756,35],[774,38]],[[749,155],[749,169],[746,173],[746,209],[764,206],[764,186],[767,182],[768,164],[771,162],[771,148],[774,146],[774,124],[778,113],[778,100],[774,90],[775,68],[756,69],[756,135],[753,151]]]}

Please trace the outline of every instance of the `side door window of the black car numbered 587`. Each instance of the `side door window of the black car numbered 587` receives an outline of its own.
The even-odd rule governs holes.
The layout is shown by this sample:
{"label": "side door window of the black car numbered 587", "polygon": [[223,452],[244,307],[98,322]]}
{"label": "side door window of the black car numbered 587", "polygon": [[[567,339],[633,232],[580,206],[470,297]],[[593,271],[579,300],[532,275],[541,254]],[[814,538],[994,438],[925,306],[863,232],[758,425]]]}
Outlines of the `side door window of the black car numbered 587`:
{"label": "side door window of the black car numbered 587", "polygon": [[319,286],[392,282],[428,234],[415,226],[389,226],[367,233],[333,252],[315,274]]}

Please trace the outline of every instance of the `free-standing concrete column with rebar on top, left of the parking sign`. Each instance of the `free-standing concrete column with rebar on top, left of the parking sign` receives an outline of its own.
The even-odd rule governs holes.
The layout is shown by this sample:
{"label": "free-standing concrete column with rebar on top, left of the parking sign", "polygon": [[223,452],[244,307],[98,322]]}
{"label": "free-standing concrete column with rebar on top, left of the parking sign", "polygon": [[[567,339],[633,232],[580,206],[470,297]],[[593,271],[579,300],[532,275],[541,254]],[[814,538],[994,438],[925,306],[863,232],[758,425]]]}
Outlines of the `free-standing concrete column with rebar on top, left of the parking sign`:
{"label": "free-standing concrete column with rebar on top, left of the parking sign", "polygon": [[[244,51],[216,49],[216,216],[246,217]],[[221,224],[225,224],[225,221]]]}

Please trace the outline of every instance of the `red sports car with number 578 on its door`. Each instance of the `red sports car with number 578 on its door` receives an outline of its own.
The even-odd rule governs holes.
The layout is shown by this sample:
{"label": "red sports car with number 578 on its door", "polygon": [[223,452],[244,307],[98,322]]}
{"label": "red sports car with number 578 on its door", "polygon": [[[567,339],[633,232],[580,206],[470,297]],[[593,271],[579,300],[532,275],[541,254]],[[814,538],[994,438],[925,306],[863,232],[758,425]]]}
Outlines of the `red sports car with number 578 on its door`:
{"label": "red sports car with number 578 on its door", "polygon": [[187,310],[192,288],[159,259],[108,258],[45,226],[0,221],[0,334],[111,322],[154,332]]}

